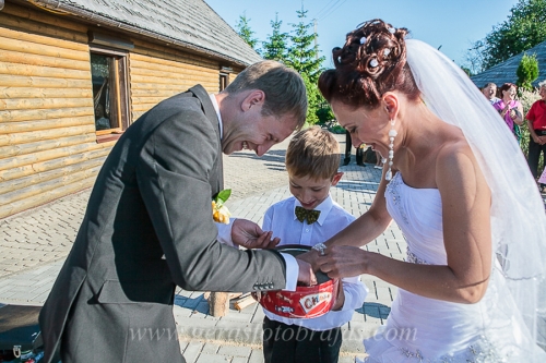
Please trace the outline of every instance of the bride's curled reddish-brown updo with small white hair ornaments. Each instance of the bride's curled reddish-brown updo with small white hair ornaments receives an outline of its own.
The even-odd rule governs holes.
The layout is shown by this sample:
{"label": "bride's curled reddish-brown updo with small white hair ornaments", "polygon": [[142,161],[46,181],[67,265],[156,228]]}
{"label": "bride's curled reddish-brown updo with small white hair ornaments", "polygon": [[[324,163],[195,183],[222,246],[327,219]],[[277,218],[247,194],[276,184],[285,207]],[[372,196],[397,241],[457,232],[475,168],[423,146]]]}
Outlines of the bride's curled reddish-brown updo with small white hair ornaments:
{"label": "bride's curled reddish-brown updo with small white hair ornaments", "polygon": [[319,89],[324,98],[355,108],[378,107],[389,90],[418,99],[419,89],[406,63],[407,33],[378,19],[348,33],[343,48],[332,50],[335,69],[320,75]]}

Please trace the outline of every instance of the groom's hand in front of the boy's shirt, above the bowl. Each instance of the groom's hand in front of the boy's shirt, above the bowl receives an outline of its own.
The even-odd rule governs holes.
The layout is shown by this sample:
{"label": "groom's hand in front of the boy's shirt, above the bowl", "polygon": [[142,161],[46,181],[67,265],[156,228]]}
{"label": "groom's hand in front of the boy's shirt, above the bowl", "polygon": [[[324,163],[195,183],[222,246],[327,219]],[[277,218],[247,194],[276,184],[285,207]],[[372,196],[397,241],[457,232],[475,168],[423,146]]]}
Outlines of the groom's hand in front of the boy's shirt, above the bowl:
{"label": "groom's hand in front of the boy's shirt, above the bowl", "polygon": [[272,238],[273,232],[264,232],[251,220],[236,219],[232,226],[232,240],[245,249],[274,249],[281,240]]}

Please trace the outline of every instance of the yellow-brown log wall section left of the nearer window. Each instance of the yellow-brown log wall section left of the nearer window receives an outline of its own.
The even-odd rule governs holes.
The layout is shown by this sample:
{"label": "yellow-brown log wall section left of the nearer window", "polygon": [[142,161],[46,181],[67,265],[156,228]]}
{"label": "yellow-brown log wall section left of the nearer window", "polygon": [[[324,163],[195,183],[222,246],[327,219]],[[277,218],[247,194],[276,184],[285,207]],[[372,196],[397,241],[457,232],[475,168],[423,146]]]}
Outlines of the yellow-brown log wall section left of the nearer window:
{"label": "yellow-brown log wall section left of the nearer window", "polygon": [[0,11],[0,218],[91,186],[114,144],[96,143],[86,32]]}

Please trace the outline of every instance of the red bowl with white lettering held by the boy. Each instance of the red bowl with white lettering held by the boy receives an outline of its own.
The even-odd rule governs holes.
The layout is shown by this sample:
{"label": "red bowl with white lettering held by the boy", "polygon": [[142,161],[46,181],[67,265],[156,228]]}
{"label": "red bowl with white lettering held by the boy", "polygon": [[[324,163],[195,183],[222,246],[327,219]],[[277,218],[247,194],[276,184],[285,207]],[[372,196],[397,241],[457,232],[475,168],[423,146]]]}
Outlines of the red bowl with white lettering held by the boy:
{"label": "red bowl with white lettering held by the boy", "polygon": [[[310,251],[311,247],[287,244],[276,250],[296,256]],[[284,317],[311,318],[324,315],[335,304],[340,281],[329,278],[321,271],[316,273],[316,275],[318,285],[314,286],[298,286],[296,291],[261,292],[260,304],[266,311]]]}

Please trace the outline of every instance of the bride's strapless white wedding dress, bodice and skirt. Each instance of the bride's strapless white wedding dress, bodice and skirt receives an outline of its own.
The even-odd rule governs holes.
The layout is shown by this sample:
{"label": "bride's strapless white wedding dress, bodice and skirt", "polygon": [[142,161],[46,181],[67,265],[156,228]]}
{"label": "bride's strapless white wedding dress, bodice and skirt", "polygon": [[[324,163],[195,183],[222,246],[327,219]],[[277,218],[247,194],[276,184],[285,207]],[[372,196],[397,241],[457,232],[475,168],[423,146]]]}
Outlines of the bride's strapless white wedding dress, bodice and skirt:
{"label": "bride's strapless white wedding dress, bodice and skirt", "polygon": [[[397,172],[385,198],[406,239],[407,262],[447,265],[439,191],[411,187]],[[385,326],[364,341],[369,354],[365,362],[546,362],[510,293],[502,291],[508,289],[500,266],[494,268],[486,295],[476,304],[399,289]]]}

